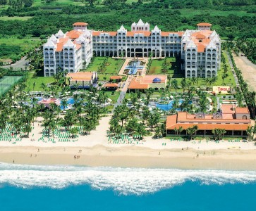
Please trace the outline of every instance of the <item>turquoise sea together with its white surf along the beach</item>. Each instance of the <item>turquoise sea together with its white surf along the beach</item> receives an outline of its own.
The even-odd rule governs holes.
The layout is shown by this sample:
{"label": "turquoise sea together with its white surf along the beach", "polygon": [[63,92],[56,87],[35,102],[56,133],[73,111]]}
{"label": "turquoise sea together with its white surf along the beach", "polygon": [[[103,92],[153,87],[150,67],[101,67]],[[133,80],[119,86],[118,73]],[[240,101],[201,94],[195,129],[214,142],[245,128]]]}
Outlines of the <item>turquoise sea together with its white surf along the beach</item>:
{"label": "turquoise sea together with its white surf along the beach", "polygon": [[256,210],[256,172],[0,164],[0,210]]}

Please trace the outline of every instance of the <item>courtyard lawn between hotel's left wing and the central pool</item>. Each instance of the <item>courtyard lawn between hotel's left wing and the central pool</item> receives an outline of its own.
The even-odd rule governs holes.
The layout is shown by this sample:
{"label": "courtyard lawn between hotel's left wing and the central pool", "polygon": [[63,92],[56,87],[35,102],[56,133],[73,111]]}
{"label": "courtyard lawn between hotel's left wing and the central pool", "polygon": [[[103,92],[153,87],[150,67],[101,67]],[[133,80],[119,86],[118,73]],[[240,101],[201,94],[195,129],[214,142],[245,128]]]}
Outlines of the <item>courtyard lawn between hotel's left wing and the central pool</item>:
{"label": "courtyard lawn between hotel's left wing and the central pool", "polygon": [[117,75],[123,65],[123,60],[109,58],[104,68],[100,70],[100,66],[102,65],[105,58],[106,57],[95,57],[93,62],[90,63],[85,71],[97,71],[99,75]]}

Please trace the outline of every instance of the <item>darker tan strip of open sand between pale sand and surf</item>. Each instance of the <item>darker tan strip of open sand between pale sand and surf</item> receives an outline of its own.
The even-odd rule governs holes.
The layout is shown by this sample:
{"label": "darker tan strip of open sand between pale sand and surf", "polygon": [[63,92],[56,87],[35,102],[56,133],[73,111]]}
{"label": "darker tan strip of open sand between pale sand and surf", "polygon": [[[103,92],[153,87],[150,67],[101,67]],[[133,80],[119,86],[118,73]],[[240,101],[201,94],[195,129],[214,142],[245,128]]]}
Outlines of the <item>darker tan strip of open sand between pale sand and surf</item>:
{"label": "darker tan strip of open sand between pale sand and surf", "polygon": [[[39,152],[38,152],[39,149]],[[81,153],[79,151],[82,150]],[[159,155],[160,153],[160,155]],[[205,153],[205,154],[204,154]],[[198,158],[197,158],[198,154]],[[74,155],[80,158],[74,159]],[[31,156],[31,157],[30,157]],[[0,147],[0,162],[181,170],[256,170],[256,150],[152,149],[144,147]]]}

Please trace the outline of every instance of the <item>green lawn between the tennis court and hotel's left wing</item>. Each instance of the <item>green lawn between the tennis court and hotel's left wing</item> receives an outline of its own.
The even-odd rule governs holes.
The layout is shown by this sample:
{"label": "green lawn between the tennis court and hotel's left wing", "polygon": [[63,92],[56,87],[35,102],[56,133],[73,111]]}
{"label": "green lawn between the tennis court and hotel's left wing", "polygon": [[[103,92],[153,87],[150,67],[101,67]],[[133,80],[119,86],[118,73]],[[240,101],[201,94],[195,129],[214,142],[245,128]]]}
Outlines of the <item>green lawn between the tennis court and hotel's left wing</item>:
{"label": "green lawn between the tennis court and hotel's left wing", "polygon": [[54,82],[54,77],[33,77],[34,72],[30,72],[30,75],[27,80],[27,91],[33,91],[33,84],[35,82],[34,91],[42,91],[43,89],[40,87],[42,83],[50,84]]}

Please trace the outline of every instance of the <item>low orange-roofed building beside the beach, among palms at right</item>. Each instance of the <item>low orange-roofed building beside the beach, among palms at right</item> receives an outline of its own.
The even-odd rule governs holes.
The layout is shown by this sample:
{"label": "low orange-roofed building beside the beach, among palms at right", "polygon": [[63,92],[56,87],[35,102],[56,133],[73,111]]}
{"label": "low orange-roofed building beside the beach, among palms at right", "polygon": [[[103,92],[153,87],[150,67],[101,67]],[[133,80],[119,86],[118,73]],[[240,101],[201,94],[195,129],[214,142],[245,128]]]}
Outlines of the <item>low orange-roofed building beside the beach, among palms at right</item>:
{"label": "low orange-roofed building beside the beach, among palms at right", "polygon": [[213,115],[197,113],[195,115],[187,112],[178,112],[166,118],[167,134],[175,134],[175,128],[182,127],[183,135],[186,129],[197,125],[196,135],[211,135],[213,129],[225,129],[225,136],[247,136],[246,129],[250,127],[250,113],[248,108],[236,108],[232,105],[222,105],[221,111]]}

